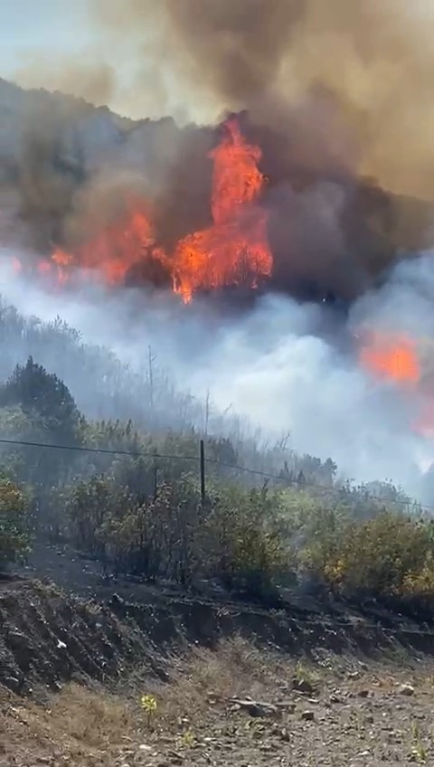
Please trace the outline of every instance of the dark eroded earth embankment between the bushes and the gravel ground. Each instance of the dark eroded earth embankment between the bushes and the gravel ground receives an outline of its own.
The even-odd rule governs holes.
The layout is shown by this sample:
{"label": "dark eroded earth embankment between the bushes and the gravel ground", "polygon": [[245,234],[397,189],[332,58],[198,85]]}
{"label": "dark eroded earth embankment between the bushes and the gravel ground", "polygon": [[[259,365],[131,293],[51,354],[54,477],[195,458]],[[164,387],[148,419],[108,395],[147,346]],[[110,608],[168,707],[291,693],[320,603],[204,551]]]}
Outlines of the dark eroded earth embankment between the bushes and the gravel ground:
{"label": "dark eroded earth embankment between the bushes and the gravel ground", "polygon": [[0,684],[26,693],[59,687],[69,679],[117,679],[139,663],[165,677],[165,657],[188,645],[215,646],[240,634],[262,647],[293,656],[356,653],[391,655],[404,647],[432,653],[434,635],[389,617],[382,622],[356,612],[321,612],[288,605],[266,611],[236,602],[159,594],[133,602],[115,594],[83,601],[36,581],[0,590]]}

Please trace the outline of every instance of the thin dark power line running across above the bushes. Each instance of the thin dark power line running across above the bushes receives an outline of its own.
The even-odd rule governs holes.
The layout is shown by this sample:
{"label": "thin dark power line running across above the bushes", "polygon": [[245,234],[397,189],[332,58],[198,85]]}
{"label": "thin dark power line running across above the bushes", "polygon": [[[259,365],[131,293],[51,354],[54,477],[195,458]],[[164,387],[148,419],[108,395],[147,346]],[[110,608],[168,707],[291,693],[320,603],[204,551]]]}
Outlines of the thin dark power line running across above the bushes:
{"label": "thin dark power line running across above the bushes", "polygon": [[[111,448],[90,448],[85,447],[83,445],[61,445],[57,443],[49,444],[47,442],[36,442],[36,441],[30,441],[30,440],[8,440],[5,438],[0,438],[0,444],[4,445],[14,445],[17,447],[27,447],[27,448],[41,448],[44,450],[73,450],[74,452],[84,452],[84,453],[99,453],[101,455],[121,455],[121,456],[129,456],[130,458],[150,458],[150,459],[165,459],[165,460],[181,460],[181,461],[199,461],[199,453],[196,456],[189,456],[189,455],[174,455],[174,454],[167,454],[167,453],[159,453],[159,452],[146,452],[144,450],[121,450],[121,449],[111,449]],[[255,475],[257,477],[262,477],[264,479],[275,479],[278,482],[287,481],[290,485],[297,485],[299,488],[311,488],[320,490],[324,493],[335,493],[342,496],[342,494],[345,492],[344,488],[335,488],[335,487],[326,487],[324,485],[318,485],[313,482],[299,482],[297,479],[289,479],[282,477],[280,474],[271,474],[267,471],[261,471],[260,469],[250,469],[250,467],[247,466],[241,466],[239,464],[231,464],[227,463],[225,461],[219,460],[219,459],[211,459],[211,458],[205,458],[205,464],[212,464],[213,466],[219,466],[223,469],[231,469],[233,471],[239,471],[244,474],[251,474]],[[370,493],[369,499],[373,501],[378,501],[379,503],[386,504],[386,503],[394,503],[400,506],[410,506],[411,503],[417,504],[420,509],[434,509],[434,504],[420,504],[418,501],[408,501],[404,499],[396,498],[394,500],[390,500],[388,498],[380,497],[380,496],[373,496]]]}

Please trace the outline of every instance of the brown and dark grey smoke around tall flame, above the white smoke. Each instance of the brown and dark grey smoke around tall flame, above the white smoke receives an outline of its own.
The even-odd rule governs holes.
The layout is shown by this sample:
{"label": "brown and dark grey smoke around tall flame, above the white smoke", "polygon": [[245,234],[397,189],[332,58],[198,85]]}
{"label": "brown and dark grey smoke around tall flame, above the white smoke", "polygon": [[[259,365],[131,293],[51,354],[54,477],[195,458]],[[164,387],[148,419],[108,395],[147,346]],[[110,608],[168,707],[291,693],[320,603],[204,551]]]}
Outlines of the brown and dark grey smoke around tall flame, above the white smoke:
{"label": "brown and dark grey smoke around tall flame, above the white smoke", "polygon": [[[81,69],[60,66],[67,90],[100,84],[89,91],[96,103],[116,102],[122,90],[125,109],[146,94],[155,112],[177,112],[184,100],[193,117],[214,124],[241,110],[269,179],[262,204],[275,286],[352,299],[401,251],[430,244],[431,207],[408,197],[434,196],[433,19],[422,5],[95,0],[91,7],[94,50]],[[118,49],[127,90],[116,81],[116,62],[104,60]],[[18,163],[20,214],[38,249],[85,240],[131,192],[155,204],[158,241],[168,251],[210,223],[216,130],[170,119],[134,123],[80,101],[48,105],[48,96],[24,116]]]}

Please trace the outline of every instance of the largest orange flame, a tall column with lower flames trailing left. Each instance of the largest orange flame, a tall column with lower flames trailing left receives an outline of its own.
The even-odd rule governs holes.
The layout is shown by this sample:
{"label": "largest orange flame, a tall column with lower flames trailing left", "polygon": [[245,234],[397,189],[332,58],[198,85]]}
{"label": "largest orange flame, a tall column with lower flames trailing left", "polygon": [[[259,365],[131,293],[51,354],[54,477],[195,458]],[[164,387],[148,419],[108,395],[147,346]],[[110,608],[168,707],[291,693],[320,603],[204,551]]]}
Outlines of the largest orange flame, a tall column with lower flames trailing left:
{"label": "largest orange flame, a tall column with lower flames trailing left", "polygon": [[146,268],[152,261],[165,270],[184,302],[199,289],[233,284],[256,288],[272,268],[268,216],[257,204],[266,181],[258,168],[261,151],[241,135],[235,118],[223,124],[222,134],[210,155],[214,165],[209,229],[187,235],[166,254],[156,242],[146,201],[128,201],[123,213],[89,241],[71,251],[55,248],[50,259],[39,262],[39,273],[61,286],[79,267],[117,284],[133,267]]}

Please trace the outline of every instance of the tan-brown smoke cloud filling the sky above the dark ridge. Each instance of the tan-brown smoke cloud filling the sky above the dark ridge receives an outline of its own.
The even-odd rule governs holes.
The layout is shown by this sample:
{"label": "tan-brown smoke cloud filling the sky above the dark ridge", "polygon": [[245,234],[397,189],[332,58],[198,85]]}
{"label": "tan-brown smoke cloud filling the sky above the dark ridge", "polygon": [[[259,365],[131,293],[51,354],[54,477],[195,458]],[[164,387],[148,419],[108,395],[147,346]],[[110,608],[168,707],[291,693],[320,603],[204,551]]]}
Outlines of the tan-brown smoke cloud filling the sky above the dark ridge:
{"label": "tan-brown smoke cloud filling the sky above the dark ridge", "polygon": [[158,64],[155,96],[165,105],[185,99],[193,117],[249,109],[286,132],[301,157],[320,161],[325,153],[392,191],[434,196],[429,3],[95,0],[92,7],[99,33],[128,42],[131,97],[140,98],[149,87],[141,74]]}

